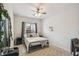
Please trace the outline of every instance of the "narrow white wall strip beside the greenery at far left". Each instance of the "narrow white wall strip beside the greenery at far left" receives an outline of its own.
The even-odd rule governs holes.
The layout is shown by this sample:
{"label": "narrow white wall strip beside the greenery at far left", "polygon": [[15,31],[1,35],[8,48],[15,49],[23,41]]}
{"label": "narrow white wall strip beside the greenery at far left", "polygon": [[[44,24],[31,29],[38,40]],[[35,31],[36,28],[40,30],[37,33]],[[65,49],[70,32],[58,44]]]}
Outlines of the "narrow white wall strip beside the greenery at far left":
{"label": "narrow white wall strip beside the greenery at far left", "polygon": [[12,5],[11,4],[7,4],[7,3],[4,3],[4,8],[7,9],[8,11],[8,14],[11,18],[11,26],[12,26],[12,39],[10,40],[11,44],[10,44],[10,47],[13,47],[14,46],[14,15],[13,15],[13,8],[12,8]]}

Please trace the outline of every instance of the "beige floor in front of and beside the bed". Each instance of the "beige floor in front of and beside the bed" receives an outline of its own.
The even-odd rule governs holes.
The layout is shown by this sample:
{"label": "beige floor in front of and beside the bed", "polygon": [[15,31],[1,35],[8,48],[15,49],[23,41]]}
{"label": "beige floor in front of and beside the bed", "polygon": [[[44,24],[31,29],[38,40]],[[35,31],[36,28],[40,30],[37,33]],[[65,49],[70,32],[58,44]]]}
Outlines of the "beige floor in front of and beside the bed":
{"label": "beige floor in front of and beside the bed", "polygon": [[39,50],[27,53],[26,47],[24,45],[18,45],[20,56],[71,56],[71,54],[58,47],[46,47]]}

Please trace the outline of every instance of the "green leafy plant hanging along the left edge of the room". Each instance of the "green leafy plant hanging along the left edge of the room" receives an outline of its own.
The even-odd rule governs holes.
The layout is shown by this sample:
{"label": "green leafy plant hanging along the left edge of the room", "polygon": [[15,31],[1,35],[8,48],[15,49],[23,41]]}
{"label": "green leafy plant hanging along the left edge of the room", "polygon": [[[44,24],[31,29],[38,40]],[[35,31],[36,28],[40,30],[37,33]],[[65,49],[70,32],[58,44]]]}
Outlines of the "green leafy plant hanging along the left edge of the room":
{"label": "green leafy plant hanging along the left edge of the room", "polygon": [[[0,3],[0,48],[4,46],[4,42],[2,41],[4,38],[4,30],[2,30],[2,26],[4,23],[2,23],[3,20],[8,19],[10,21],[10,16],[8,15],[8,11],[4,9],[4,6],[2,3]],[[10,22],[10,29],[11,29],[11,22]],[[11,30],[9,31],[9,39],[12,36]]]}

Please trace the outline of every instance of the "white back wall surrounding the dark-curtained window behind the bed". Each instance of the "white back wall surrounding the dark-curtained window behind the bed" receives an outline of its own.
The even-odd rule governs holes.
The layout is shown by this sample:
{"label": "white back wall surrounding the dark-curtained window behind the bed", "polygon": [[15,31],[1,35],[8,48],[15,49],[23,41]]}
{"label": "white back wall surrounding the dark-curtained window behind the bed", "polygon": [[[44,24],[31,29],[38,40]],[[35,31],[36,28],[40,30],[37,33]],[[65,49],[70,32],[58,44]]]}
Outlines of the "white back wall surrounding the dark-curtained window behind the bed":
{"label": "white back wall surrounding the dark-curtained window behind the bed", "polygon": [[15,37],[15,39],[17,37],[21,37],[22,22],[37,23],[37,31],[38,31],[38,33],[41,34],[42,26],[41,26],[40,19],[15,16],[15,21],[14,21],[14,35],[15,35],[14,37]]}

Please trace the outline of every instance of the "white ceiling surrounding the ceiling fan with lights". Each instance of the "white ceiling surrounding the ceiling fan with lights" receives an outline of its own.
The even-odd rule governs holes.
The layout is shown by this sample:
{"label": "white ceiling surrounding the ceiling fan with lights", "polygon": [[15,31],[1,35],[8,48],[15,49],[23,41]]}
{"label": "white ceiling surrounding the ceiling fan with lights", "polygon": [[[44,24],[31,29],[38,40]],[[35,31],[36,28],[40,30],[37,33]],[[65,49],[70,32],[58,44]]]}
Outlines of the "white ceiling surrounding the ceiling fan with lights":
{"label": "white ceiling surrounding the ceiling fan with lights", "polygon": [[63,9],[67,10],[67,8],[75,7],[75,5],[79,6],[79,4],[75,3],[43,3],[42,7],[45,8],[47,14],[42,17],[37,17],[34,16],[34,12],[32,10],[34,10],[38,5],[39,3],[13,3],[12,7],[14,15],[43,19],[50,15],[52,16],[52,14],[55,15],[57,13],[61,13],[60,11],[62,10],[63,12]]}

